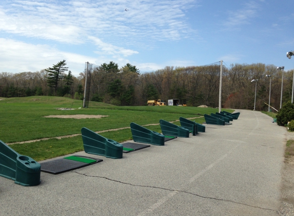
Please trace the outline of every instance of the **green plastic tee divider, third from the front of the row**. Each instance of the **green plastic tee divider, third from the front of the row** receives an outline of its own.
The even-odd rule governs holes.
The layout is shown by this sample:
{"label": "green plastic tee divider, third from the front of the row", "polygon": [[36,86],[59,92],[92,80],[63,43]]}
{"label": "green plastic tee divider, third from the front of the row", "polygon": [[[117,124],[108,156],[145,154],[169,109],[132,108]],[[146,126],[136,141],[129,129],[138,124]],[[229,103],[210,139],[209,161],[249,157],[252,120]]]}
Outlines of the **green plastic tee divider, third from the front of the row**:
{"label": "green plastic tee divider, third from the front of the row", "polygon": [[132,122],[130,124],[134,142],[147,143],[152,145],[164,145],[164,136],[151,131],[139,124]]}

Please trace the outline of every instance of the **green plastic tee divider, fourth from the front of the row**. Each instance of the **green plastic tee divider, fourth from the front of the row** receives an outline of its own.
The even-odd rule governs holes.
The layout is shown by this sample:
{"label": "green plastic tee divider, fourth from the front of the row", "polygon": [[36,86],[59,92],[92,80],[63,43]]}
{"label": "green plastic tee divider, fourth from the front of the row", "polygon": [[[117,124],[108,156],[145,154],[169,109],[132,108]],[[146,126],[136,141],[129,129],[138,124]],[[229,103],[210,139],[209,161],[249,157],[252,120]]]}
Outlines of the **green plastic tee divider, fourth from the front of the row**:
{"label": "green plastic tee divider, fourth from the front of the row", "polygon": [[159,122],[160,122],[160,127],[161,127],[161,131],[163,135],[185,137],[185,138],[189,137],[190,132],[188,129],[172,124],[163,119],[161,119]]}

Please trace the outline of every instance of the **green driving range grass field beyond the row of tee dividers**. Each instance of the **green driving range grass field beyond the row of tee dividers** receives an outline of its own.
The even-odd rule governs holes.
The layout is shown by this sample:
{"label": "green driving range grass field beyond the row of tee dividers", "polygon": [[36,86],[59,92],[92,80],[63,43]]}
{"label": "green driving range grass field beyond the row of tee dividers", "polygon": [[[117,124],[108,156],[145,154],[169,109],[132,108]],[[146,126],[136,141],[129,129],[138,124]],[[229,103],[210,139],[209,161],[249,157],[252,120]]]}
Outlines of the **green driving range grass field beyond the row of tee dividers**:
{"label": "green driving range grass field beyond the row of tee dividers", "polygon": [[[75,110],[57,110],[60,107]],[[42,138],[81,134],[81,128],[92,131],[104,131],[114,128],[129,127],[131,122],[140,125],[179,120],[180,117],[200,117],[204,114],[218,112],[213,108],[184,106],[114,106],[99,102],[90,102],[88,109],[82,107],[81,100],[65,97],[33,96],[24,98],[2,98],[0,100],[1,130],[0,140],[5,143],[29,141]],[[232,112],[232,110],[226,110]],[[105,115],[100,119],[61,119],[44,118],[49,115]],[[204,118],[195,119],[203,123]],[[175,124],[180,125],[179,122]],[[146,126],[152,131],[160,132],[159,125]],[[101,133],[102,136],[123,142],[131,139],[130,129]],[[49,139],[26,144],[11,144],[10,147],[19,154],[27,155],[37,161],[67,155],[83,150],[81,136],[63,139]]]}

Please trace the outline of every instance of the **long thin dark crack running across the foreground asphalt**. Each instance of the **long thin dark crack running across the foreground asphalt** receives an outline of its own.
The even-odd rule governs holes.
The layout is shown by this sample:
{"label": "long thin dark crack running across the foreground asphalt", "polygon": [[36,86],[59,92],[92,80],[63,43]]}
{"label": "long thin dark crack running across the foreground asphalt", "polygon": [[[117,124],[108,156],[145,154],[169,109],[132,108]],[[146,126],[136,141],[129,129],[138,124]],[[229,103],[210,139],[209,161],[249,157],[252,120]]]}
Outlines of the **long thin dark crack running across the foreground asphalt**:
{"label": "long thin dark crack running across the foreground asphalt", "polygon": [[114,179],[109,179],[107,177],[102,177],[102,176],[90,176],[90,175],[82,174],[82,173],[77,172],[77,171],[71,171],[71,172],[74,172],[76,174],[83,175],[83,176],[86,176],[86,177],[94,177],[94,178],[106,179],[106,180],[109,180],[109,181],[113,181],[113,182],[117,182],[117,183],[121,183],[121,184],[126,184],[126,185],[131,185],[131,186],[135,186],[135,187],[149,187],[149,188],[155,188],[155,189],[168,190],[168,191],[172,191],[172,192],[174,191],[174,192],[188,193],[189,195],[197,196],[197,197],[200,197],[200,198],[203,198],[203,199],[225,201],[225,202],[236,203],[236,204],[245,205],[245,206],[249,206],[249,207],[253,207],[253,208],[259,208],[259,209],[263,209],[263,210],[276,211],[275,209],[262,208],[262,207],[259,207],[259,206],[253,206],[253,205],[249,205],[249,204],[245,204],[245,203],[239,203],[239,202],[232,201],[232,200],[218,199],[218,198],[213,198],[213,197],[205,197],[205,196],[198,195],[197,193],[191,193],[191,192],[187,192],[187,191],[184,191],[184,190],[174,190],[174,189],[168,189],[168,188],[164,188],[164,187],[156,187],[156,186],[148,186],[148,185],[136,185],[136,184],[126,183],[126,182],[122,182],[122,181],[117,181],[117,180],[114,180]]}

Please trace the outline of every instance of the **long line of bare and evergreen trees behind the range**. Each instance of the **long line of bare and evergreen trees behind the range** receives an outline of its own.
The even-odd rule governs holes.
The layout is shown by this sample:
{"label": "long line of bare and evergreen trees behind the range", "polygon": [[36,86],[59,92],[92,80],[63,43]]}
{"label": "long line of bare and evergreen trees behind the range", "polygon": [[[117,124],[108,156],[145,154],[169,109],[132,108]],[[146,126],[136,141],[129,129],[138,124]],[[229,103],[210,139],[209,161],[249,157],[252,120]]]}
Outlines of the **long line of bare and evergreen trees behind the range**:
{"label": "long line of bare and evergreen trees behind the range", "polygon": [[[34,95],[65,96],[83,99],[86,71],[75,77],[60,61],[40,72],[0,73],[1,97]],[[165,67],[140,74],[136,66],[124,67],[110,61],[90,70],[90,100],[114,105],[147,105],[147,100],[180,99],[188,106],[219,106],[220,65]],[[256,110],[270,105],[279,110],[283,73],[283,102],[291,100],[293,70],[277,70],[272,64],[231,64],[223,66],[222,107]],[[266,75],[271,75],[267,77]],[[257,83],[251,82],[257,79]],[[270,83],[271,82],[271,83]]]}

